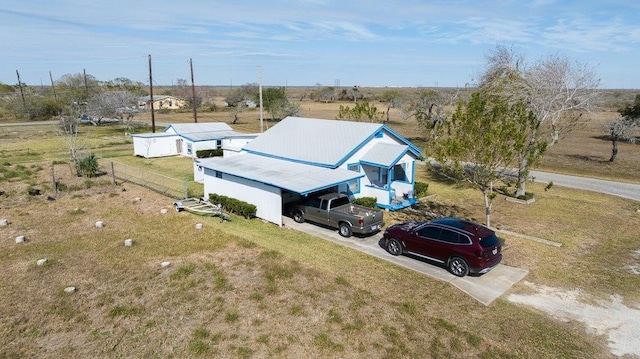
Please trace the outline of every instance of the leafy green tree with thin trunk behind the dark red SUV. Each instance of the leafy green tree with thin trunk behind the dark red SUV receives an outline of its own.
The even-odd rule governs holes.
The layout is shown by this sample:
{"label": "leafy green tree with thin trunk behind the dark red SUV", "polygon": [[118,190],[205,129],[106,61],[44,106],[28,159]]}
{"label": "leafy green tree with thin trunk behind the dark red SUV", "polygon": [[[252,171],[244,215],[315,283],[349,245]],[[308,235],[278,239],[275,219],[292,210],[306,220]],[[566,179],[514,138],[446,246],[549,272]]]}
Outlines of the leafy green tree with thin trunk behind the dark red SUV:
{"label": "leafy green tree with thin trunk behind the dark red SUV", "polygon": [[485,222],[491,224],[491,207],[499,182],[517,163],[527,144],[535,114],[523,102],[475,92],[468,104],[458,104],[451,120],[437,127],[430,143],[436,168],[445,176],[468,182],[482,192]]}

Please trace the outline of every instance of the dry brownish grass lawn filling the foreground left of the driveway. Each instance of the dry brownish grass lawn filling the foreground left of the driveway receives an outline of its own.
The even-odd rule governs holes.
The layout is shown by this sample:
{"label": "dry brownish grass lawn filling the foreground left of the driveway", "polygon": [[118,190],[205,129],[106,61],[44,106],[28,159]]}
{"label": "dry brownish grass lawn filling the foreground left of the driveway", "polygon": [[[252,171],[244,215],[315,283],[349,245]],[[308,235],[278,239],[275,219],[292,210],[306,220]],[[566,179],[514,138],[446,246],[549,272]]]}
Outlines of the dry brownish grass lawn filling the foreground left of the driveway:
{"label": "dry brownish grass lawn filling the foreground left of the driveway", "polygon": [[501,300],[484,307],[446,283],[262,221],[162,214],[170,199],[135,186],[5,209],[24,196],[2,198],[11,223],[0,229],[0,357],[607,356],[580,326]]}

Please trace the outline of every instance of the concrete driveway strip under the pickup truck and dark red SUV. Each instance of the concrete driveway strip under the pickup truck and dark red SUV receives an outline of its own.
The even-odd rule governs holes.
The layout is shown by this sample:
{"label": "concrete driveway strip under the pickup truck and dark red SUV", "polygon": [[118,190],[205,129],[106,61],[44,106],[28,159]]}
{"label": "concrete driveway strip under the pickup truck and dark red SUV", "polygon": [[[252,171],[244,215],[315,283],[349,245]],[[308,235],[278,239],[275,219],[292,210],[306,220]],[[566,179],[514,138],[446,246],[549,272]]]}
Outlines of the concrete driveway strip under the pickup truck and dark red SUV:
{"label": "concrete driveway strip under the pickup truck and dark red SUV", "polygon": [[332,230],[311,223],[296,223],[289,217],[283,217],[284,228],[290,228],[305,232],[316,237],[324,238],[345,247],[376,256],[391,263],[403,266],[418,273],[422,273],[431,278],[451,283],[454,287],[470,295],[484,305],[491,304],[494,300],[503,295],[515,283],[522,280],[528,270],[510,267],[499,264],[486,274],[480,276],[456,277],[446,269],[433,264],[425,263],[418,259],[407,256],[392,256],[379,244],[382,233],[377,233],[368,237],[352,236],[343,238],[337,230]]}

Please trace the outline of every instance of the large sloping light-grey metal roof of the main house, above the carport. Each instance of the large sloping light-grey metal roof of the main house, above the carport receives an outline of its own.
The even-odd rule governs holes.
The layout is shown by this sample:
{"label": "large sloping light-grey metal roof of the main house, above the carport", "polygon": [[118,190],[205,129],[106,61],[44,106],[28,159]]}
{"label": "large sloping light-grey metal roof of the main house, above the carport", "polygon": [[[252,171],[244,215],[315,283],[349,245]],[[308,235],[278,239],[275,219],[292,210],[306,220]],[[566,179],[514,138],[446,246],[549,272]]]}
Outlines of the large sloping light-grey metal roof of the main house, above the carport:
{"label": "large sloping light-grey metal roof of the main house, above the carport", "polygon": [[286,117],[243,147],[247,152],[323,167],[338,167],[384,126]]}

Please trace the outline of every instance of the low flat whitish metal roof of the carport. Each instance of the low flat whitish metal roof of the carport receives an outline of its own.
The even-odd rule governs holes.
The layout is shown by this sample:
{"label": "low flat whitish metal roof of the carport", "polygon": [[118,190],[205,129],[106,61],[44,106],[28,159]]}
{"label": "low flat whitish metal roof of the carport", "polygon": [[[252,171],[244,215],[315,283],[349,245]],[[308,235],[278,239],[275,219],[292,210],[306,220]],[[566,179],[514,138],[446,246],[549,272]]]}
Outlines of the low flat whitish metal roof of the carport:
{"label": "low flat whitish metal roof of the carport", "polygon": [[363,173],[342,168],[330,169],[250,153],[202,159],[200,165],[302,195],[364,177]]}

